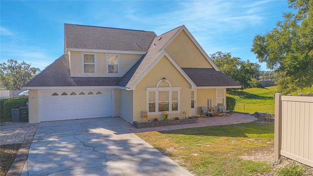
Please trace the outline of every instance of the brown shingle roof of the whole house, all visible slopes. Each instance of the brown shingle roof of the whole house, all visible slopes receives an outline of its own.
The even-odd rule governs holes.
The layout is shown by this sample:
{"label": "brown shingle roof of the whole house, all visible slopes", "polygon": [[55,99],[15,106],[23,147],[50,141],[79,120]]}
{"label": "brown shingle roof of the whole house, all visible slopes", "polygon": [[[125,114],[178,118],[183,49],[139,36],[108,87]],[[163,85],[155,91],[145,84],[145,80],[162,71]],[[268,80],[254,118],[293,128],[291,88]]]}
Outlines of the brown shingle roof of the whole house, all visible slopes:
{"label": "brown shingle roof of the whole house, all visible slopes", "polygon": [[[181,29],[156,37],[154,32],[65,24],[68,48],[145,51],[122,77],[71,77],[68,55],[62,55],[24,87],[120,86],[130,88],[164,52],[160,50]],[[134,40],[137,44],[134,44]],[[197,87],[239,87],[214,68],[182,68]]]}

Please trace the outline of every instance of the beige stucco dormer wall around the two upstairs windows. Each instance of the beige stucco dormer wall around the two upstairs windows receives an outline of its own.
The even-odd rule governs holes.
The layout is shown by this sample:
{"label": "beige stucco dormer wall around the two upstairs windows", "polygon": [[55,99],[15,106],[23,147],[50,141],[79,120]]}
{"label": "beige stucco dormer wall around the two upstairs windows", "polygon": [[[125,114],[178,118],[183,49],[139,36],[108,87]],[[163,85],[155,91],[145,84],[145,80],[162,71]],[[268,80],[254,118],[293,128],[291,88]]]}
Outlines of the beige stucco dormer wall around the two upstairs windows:
{"label": "beige stucco dormer wall around the two upstairs windows", "polygon": [[[95,54],[96,74],[83,74],[83,54]],[[121,77],[142,57],[141,54],[117,54],[119,55],[119,74],[107,74],[107,54],[99,52],[70,52],[70,74],[77,77]]]}

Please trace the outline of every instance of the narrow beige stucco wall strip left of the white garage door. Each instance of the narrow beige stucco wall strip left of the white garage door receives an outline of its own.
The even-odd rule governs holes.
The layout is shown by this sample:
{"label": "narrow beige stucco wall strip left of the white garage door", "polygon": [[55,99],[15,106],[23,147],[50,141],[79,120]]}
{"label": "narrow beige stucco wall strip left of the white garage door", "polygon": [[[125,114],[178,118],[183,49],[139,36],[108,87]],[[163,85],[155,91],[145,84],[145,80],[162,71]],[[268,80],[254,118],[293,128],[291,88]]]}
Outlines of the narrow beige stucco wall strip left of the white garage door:
{"label": "narrow beige stucco wall strip left of the white garage door", "polygon": [[29,123],[38,123],[38,90],[28,90]]}

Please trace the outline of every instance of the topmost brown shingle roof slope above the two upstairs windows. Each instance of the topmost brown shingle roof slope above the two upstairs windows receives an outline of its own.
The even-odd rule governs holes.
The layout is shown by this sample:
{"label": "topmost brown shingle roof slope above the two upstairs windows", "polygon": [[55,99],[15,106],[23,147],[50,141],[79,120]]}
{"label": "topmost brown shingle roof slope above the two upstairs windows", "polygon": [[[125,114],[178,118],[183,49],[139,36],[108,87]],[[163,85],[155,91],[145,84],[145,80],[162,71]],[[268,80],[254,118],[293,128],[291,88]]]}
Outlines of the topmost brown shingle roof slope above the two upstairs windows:
{"label": "topmost brown shingle roof slope above the two upstairs windows", "polygon": [[154,32],[65,24],[67,48],[147,52]]}

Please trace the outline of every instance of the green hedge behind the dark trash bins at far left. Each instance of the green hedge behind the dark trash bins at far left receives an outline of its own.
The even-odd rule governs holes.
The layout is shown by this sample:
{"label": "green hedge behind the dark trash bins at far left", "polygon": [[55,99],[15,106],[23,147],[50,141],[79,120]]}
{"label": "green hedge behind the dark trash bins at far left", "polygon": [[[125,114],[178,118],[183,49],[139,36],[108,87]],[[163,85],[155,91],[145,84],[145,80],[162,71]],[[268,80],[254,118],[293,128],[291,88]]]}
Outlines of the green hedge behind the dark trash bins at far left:
{"label": "green hedge behind the dark trash bins at far left", "polygon": [[3,111],[1,111],[1,118],[10,118],[11,109],[17,109],[26,106],[28,102],[28,96],[10,98],[3,103]]}

